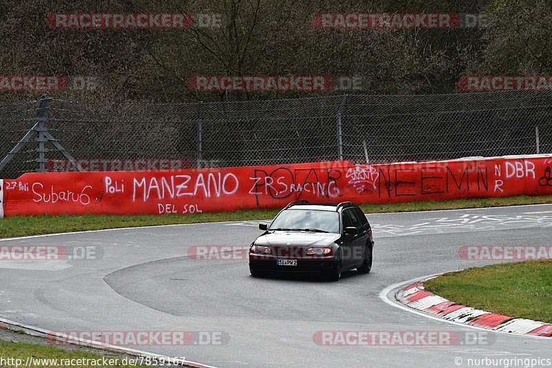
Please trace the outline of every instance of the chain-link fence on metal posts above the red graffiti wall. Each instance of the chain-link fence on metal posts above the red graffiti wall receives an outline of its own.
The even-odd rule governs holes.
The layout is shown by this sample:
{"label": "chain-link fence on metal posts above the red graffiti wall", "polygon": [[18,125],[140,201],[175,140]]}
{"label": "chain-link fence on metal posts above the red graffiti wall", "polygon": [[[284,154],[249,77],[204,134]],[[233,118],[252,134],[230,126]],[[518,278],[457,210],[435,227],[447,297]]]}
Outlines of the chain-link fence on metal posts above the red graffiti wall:
{"label": "chain-link fence on metal posts above the red graffiti wall", "polygon": [[551,118],[549,91],[189,104],[43,98],[0,104],[0,178],[77,167],[155,170],[552,153]]}

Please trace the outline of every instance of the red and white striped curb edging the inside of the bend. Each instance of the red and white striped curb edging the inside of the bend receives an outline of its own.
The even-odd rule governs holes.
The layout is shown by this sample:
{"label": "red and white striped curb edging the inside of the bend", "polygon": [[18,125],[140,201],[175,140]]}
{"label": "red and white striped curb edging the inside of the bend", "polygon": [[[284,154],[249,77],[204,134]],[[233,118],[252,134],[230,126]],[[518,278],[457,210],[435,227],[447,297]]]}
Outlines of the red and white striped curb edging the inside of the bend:
{"label": "red and white striped curb edging the inside of the bend", "polygon": [[511,334],[552,337],[551,323],[502,316],[501,314],[493,314],[489,311],[458,305],[428,292],[422,281],[400,289],[396,297],[397,300],[408,307],[456,323],[465,323],[466,325]]}

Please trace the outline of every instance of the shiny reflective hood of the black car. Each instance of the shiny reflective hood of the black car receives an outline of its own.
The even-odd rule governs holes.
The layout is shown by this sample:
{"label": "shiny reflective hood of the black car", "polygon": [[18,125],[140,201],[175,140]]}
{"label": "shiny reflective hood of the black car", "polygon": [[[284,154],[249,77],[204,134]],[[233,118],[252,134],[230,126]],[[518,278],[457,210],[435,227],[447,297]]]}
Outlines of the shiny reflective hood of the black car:
{"label": "shiny reflective hood of the black car", "polygon": [[321,232],[269,232],[259,236],[255,245],[293,245],[295,247],[326,247],[339,239],[339,234]]}

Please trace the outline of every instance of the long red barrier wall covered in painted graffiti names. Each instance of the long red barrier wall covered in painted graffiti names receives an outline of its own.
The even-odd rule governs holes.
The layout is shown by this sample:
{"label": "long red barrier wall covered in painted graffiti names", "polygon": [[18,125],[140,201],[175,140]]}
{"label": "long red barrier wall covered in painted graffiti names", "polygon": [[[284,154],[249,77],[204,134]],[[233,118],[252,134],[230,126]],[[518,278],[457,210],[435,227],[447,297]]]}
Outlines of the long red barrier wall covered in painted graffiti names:
{"label": "long red barrier wall covered in painted graffiti names", "polygon": [[[28,173],[3,181],[5,216],[189,214],[317,202],[397,203],[552,194],[552,156],[158,172]],[[1,200],[1,199],[0,199]]]}

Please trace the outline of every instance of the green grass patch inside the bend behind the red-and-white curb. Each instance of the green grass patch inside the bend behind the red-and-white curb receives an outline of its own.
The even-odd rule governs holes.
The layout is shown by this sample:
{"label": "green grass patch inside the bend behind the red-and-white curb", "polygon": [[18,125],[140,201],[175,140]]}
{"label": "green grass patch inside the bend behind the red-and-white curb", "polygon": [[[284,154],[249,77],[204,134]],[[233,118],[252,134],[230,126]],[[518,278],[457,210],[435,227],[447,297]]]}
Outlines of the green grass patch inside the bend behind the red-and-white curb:
{"label": "green grass patch inside the bend behind the red-and-white curb", "polygon": [[428,280],[424,286],[460,305],[552,323],[550,259],[464,269]]}

